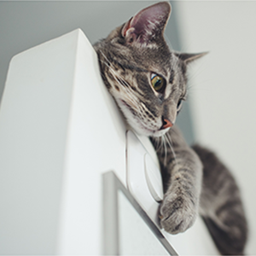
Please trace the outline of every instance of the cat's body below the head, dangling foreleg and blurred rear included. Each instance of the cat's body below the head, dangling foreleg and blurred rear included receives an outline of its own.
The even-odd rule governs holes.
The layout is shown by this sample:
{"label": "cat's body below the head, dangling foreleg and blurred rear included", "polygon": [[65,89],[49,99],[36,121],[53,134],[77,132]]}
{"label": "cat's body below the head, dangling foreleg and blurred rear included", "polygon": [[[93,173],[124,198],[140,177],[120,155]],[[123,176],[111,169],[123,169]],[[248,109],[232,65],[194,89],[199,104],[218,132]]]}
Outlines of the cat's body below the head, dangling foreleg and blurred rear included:
{"label": "cat's body below the head, dangling foreleg and blurred rear included", "polygon": [[[168,133],[172,148],[167,148],[167,160],[165,150],[157,150],[165,190],[160,213],[166,221],[161,226],[172,234],[183,232],[198,211],[221,254],[243,255],[247,220],[236,180],[210,150],[189,148],[177,127]],[[157,139],[151,141],[159,148]]]}

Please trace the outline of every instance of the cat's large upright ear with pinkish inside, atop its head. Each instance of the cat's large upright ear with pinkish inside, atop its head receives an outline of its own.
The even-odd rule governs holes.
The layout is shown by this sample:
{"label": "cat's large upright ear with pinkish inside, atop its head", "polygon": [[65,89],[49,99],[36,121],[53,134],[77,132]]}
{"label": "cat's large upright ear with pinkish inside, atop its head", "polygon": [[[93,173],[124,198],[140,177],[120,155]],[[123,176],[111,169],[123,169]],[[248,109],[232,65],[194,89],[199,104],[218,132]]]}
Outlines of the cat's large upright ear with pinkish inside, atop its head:
{"label": "cat's large upright ear with pinkish inside, atop its head", "polygon": [[122,36],[128,43],[148,43],[163,35],[170,15],[170,3],[155,3],[127,21],[122,29]]}

